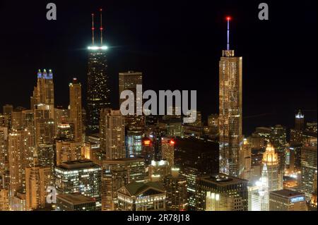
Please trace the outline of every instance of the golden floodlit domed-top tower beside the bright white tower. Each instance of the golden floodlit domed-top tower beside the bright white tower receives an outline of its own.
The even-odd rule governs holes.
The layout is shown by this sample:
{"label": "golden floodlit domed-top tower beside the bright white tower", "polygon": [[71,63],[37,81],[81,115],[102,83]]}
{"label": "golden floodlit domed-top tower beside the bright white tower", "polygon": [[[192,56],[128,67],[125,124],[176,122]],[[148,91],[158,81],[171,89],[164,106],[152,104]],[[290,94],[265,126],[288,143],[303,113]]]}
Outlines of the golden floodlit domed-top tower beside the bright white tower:
{"label": "golden floodlit domed-top tower beside the bright white tower", "polygon": [[283,175],[279,170],[278,154],[272,145],[267,145],[262,159],[263,169],[266,165],[269,177],[269,192],[283,189]]}

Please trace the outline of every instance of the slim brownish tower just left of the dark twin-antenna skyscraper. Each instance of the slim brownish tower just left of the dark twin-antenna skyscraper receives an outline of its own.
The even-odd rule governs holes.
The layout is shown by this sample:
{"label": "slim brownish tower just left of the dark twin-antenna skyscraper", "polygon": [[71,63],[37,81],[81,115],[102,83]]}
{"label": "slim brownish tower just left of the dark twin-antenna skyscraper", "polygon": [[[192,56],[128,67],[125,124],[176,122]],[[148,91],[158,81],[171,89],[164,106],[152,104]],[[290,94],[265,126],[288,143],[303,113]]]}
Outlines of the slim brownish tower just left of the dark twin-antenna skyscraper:
{"label": "slim brownish tower just left of the dark twin-antenna skyscraper", "polygon": [[81,83],[78,83],[76,78],[69,84],[69,106],[70,118],[75,124],[74,140],[76,142],[82,141],[83,120],[82,120],[82,90]]}

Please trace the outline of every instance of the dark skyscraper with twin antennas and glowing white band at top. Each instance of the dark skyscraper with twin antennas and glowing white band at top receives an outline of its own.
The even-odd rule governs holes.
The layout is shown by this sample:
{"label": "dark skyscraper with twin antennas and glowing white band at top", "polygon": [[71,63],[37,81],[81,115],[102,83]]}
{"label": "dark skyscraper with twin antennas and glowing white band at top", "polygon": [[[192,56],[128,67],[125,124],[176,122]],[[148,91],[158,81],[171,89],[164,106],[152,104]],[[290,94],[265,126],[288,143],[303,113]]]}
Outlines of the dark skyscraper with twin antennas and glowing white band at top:
{"label": "dark skyscraper with twin antennas and glowing white band at top", "polygon": [[[102,10],[100,11],[102,16]],[[98,133],[100,109],[110,107],[110,88],[107,75],[107,49],[102,43],[102,24],[100,25],[100,46],[95,45],[94,15],[92,46],[88,47],[88,81],[87,81],[87,127],[88,133]],[[102,18],[102,17],[101,17]],[[101,20],[102,22],[102,20]]]}

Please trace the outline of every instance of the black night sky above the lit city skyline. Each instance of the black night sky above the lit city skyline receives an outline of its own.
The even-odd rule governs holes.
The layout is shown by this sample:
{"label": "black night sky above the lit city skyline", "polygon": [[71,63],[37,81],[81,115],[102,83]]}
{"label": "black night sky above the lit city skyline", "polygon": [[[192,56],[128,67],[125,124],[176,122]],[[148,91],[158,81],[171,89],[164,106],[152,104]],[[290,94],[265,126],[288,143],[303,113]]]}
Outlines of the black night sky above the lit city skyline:
{"label": "black night sky above the lit city skyline", "polygon": [[[57,4],[57,20],[46,5]],[[269,20],[258,5],[269,4]],[[86,92],[90,14],[104,9],[112,104],[118,73],[142,71],[143,89],[197,90],[204,116],[218,113],[218,61],[232,16],[231,49],[243,56],[243,130],[317,120],[317,1],[0,1],[0,106],[30,107],[39,68],[54,71],[56,105],[76,76]],[[96,27],[99,23],[97,23]],[[97,34],[96,34],[97,35]]]}

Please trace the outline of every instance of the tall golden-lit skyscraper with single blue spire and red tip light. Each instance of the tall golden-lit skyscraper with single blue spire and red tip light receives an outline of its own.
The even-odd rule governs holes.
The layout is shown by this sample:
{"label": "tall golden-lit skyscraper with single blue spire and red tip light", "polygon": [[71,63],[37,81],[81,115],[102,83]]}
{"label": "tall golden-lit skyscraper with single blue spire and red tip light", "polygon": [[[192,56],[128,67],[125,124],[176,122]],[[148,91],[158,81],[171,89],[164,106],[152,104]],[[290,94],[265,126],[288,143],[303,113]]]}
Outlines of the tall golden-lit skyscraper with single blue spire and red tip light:
{"label": "tall golden-lit skyscraper with single blue spire and red tip light", "polygon": [[220,58],[220,173],[240,176],[240,148],[242,147],[242,57],[230,50],[228,20],[228,48]]}

